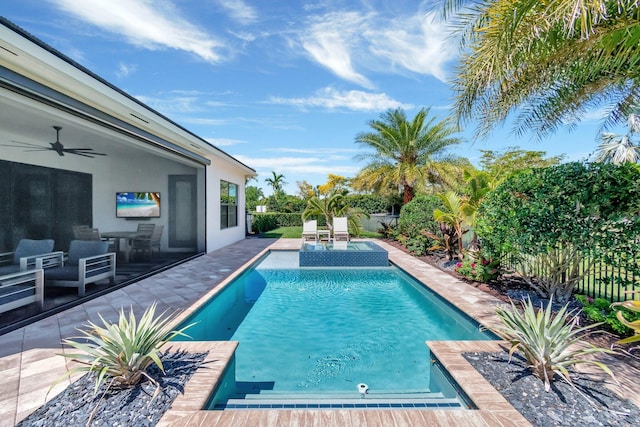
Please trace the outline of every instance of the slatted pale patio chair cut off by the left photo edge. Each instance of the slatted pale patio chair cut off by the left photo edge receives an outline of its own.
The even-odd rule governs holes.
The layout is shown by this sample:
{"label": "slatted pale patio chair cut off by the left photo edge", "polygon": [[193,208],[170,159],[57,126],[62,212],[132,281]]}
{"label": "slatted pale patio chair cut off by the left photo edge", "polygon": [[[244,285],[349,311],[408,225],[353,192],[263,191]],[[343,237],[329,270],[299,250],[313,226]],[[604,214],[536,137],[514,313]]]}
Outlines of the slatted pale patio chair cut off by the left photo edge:
{"label": "slatted pale patio chair cut off by the left photo edge", "polygon": [[0,276],[0,313],[44,301],[44,273],[41,269]]}

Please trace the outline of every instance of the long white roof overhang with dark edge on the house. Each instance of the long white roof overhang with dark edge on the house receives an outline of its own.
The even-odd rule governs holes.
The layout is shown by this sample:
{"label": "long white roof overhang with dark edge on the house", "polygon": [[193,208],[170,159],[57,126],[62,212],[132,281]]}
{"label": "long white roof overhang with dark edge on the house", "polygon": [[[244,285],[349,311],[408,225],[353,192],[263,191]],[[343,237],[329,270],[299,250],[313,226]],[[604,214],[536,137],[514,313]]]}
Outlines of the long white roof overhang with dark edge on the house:
{"label": "long white roof overhang with dark edge on the house", "polygon": [[2,17],[0,86],[200,164],[217,159],[256,174]]}

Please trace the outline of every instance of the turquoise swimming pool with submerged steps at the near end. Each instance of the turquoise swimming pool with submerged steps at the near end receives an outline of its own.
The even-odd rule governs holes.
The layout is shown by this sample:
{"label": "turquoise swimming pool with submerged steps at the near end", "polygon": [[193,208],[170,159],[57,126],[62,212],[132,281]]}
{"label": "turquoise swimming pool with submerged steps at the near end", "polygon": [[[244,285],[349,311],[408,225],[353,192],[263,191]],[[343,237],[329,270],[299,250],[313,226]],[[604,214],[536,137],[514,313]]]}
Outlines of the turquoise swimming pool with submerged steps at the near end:
{"label": "turquoise swimming pool with submerged steps at the near end", "polygon": [[269,253],[183,323],[198,322],[194,340],[240,343],[210,409],[465,406],[425,341],[495,336],[397,267],[297,263],[295,251]]}

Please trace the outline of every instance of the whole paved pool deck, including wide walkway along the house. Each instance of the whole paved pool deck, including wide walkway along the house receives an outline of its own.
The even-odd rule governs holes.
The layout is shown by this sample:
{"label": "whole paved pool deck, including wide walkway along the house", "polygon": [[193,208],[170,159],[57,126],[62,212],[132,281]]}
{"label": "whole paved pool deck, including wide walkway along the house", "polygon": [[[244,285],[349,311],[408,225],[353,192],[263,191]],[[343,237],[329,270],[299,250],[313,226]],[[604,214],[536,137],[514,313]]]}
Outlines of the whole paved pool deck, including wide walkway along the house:
{"label": "whole paved pool deck, including wide walkway along the house", "polygon": [[[454,277],[431,267],[402,251],[377,241],[389,251],[389,259],[485,326],[498,322],[495,307],[500,302]],[[49,386],[70,365],[57,355],[65,349],[61,339],[76,336],[75,328],[88,320],[117,319],[121,307],[133,307],[140,315],[154,300],[159,312],[181,310],[184,318],[243,267],[268,249],[300,248],[300,239],[246,239],[203,255],[153,277],[141,280],[70,310],[0,336],[0,427],[12,426],[45,403]],[[179,321],[179,319],[178,319]],[[469,365],[461,351],[496,351],[499,342],[428,343],[440,362],[463,387],[478,410],[243,410],[200,411],[215,380],[235,348],[235,343],[172,343],[190,351],[208,349],[211,363],[198,371],[174,402],[159,425],[332,425],[403,426],[468,425],[523,426],[529,423],[484,378]],[[638,372],[628,365],[612,365],[619,379],[626,381],[618,390],[640,404]],[[626,372],[625,372],[626,371]],[[73,378],[76,379],[77,377]],[[603,377],[603,383],[605,378]],[[610,381],[608,381],[610,382]],[[47,399],[61,392],[69,381],[56,386]],[[603,384],[604,385],[604,384]]]}

